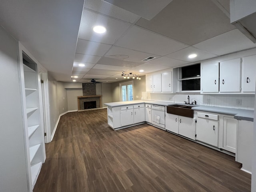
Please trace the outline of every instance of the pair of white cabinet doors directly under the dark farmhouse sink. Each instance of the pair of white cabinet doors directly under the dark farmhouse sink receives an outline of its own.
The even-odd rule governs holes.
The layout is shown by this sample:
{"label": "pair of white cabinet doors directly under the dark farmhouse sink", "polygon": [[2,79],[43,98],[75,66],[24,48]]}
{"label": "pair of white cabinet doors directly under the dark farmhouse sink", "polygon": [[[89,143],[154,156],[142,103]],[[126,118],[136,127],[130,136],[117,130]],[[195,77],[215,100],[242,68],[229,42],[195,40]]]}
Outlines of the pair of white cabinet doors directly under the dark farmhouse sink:
{"label": "pair of white cabinet doors directly under the dark farmhouse sink", "polygon": [[165,128],[168,131],[195,140],[195,118],[183,117],[166,113]]}

